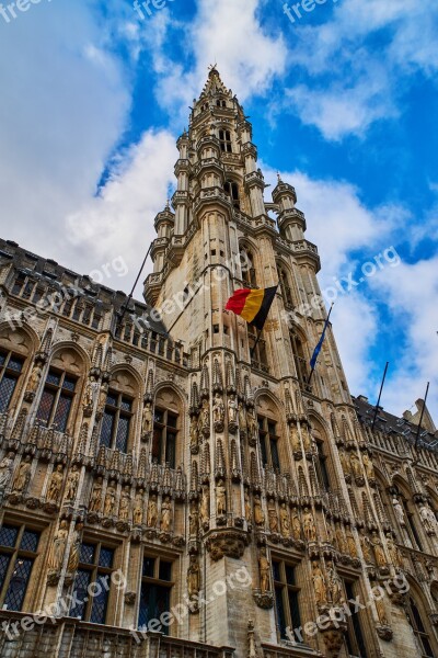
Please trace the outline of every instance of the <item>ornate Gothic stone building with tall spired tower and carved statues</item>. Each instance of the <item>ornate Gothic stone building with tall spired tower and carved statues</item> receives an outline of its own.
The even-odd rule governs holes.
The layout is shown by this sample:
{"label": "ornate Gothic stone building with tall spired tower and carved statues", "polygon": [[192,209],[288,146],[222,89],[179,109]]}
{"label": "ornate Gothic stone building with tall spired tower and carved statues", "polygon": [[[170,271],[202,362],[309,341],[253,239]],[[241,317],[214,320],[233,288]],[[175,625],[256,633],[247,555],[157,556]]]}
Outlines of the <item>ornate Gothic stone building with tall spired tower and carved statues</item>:
{"label": "ornate Gothic stone building with tall spired tower and carved statues", "polygon": [[146,304],[0,240],[0,655],[437,657],[431,419],[371,431],[331,328],[309,384],[318,250],[216,69],[177,148]]}

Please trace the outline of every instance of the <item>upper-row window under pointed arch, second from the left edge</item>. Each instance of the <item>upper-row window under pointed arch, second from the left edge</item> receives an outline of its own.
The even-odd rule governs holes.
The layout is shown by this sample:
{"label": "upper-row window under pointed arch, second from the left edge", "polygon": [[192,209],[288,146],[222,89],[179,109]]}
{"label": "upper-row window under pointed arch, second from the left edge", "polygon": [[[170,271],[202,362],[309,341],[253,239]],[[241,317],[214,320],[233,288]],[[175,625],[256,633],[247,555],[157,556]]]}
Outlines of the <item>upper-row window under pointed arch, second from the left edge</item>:
{"label": "upper-row window under pointed arch, second from the left edge", "polygon": [[46,427],[54,426],[65,432],[74,398],[77,378],[54,368],[48,371],[36,420]]}

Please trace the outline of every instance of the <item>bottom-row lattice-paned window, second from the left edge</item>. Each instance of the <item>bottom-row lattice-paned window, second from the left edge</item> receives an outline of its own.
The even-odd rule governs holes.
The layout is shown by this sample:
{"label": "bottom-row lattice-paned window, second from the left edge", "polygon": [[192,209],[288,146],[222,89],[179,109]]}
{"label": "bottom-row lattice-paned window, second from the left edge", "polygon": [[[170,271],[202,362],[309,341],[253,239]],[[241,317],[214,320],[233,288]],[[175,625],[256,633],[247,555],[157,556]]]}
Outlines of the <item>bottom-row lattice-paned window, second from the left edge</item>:
{"label": "bottom-row lattice-paned window, second from the left edge", "polygon": [[[114,568],[114,548],[84,542],[74,578],[70,616],[105,624]],[[90,592],[93,592],[90,595]]]}

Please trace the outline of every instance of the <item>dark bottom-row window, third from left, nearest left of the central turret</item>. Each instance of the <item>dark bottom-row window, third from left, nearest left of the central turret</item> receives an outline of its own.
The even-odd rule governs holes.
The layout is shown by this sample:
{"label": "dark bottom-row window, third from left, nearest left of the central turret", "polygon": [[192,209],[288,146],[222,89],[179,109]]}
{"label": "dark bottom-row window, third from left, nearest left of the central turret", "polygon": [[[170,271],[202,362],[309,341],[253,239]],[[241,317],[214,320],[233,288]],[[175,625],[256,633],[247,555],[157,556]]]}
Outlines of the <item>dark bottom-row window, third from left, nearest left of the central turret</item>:
{"label": "dark bottom-row window, third from left, nearest left of the central turret", "polygon": [[[138,611],[140,631],[146,631],[151,620],[159,620],[163,612],[169,612],[172,586],[172,563],[161,557],[145,555]],[[168,635],[169,626],[161,626],[160,632]]]}

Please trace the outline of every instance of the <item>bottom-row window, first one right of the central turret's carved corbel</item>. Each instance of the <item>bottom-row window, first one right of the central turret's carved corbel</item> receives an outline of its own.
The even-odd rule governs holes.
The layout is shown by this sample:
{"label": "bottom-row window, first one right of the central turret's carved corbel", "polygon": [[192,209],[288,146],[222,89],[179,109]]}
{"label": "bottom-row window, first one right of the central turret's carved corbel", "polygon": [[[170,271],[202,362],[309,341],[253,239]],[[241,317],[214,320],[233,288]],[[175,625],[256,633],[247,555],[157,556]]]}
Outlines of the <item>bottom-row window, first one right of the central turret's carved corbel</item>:
{"label": "bottom-row window, first one right of the central turret's carved corbel", "polygon": [[[287,631],[301,626],[300,588],[297,587],[296,568],[293,565],[273,559],[273,576],[278,632],[281,639],[289,639]],[[302,636],[297,640],[302,642]]]}

